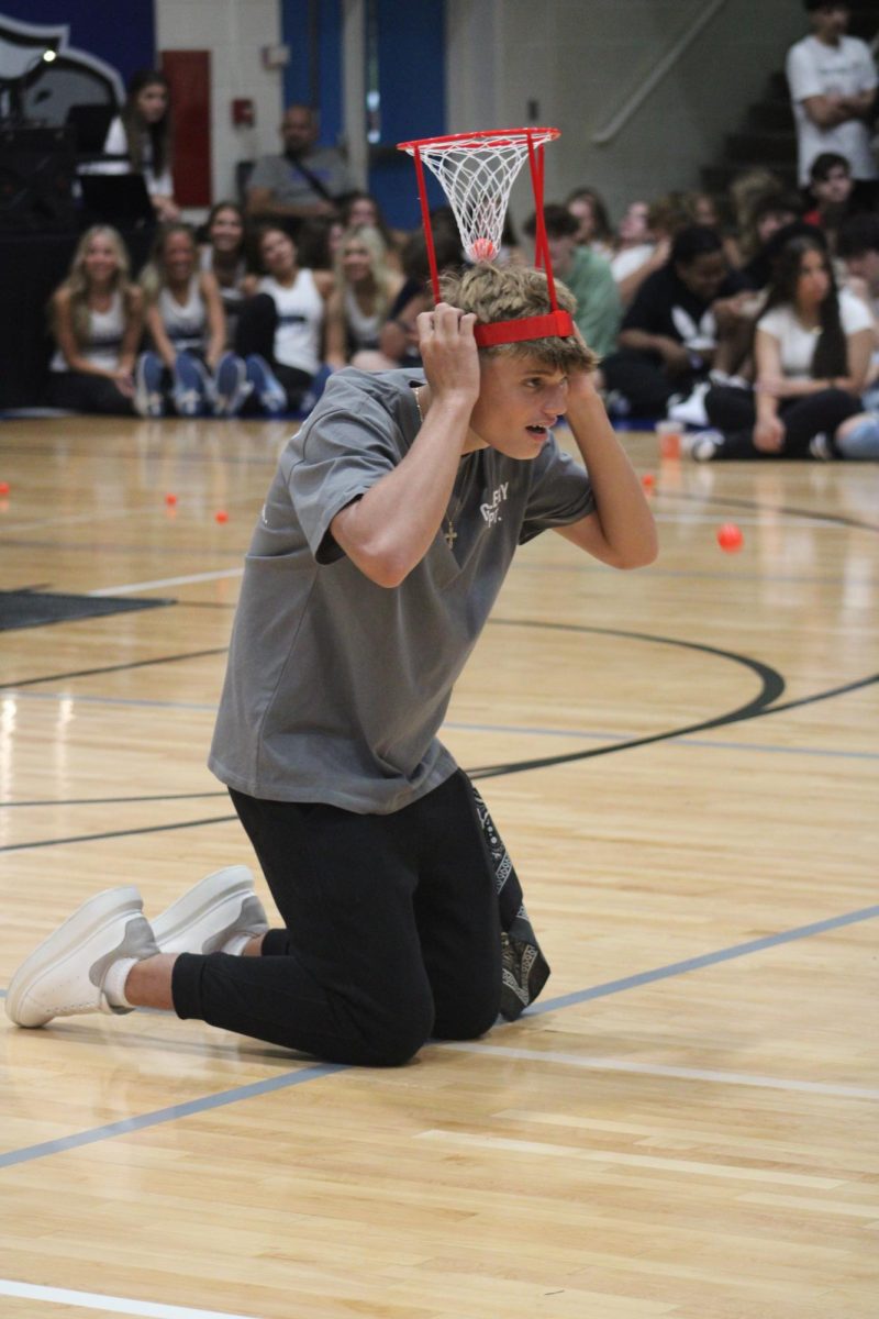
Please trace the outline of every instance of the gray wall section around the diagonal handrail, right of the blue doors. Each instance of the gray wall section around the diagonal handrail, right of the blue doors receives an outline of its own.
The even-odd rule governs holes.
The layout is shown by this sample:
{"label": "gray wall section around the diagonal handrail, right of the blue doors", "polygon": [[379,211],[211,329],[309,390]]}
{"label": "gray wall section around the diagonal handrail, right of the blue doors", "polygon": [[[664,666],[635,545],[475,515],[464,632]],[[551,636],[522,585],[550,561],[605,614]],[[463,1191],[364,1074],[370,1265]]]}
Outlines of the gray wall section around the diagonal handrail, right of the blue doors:
{"label": "gray wall section around the diagonal handrail, right of the blue doors", "polygon": [[[800,0],[723,0],[606,146],[592,138],[713,0],[447,0],[448,131],[553,124],[546,195],[597,187],[619,218],[635,198],[698,186],[768,74],[808,30]],[[531,208],[521,182],[513,212]]]}

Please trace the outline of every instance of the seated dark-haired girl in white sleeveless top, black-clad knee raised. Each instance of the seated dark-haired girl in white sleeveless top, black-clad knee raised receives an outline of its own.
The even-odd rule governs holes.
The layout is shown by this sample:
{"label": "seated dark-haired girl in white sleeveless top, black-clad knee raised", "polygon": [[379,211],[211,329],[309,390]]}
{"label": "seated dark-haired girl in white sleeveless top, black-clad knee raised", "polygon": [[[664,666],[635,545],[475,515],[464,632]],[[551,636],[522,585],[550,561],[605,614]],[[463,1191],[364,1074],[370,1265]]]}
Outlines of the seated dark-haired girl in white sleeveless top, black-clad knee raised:
{"label": "seated dark-haired girl in white sleeveless top, black-clad knee raised", "polygon": [[246,409],[258,405],[273,417],[308,410],[329,375],[323,338],[335,281],[328,270],[299,265],[297,244],[277,224],[260,228],[257,255],[265,273],[248,277],[236,336],[253,388]]}

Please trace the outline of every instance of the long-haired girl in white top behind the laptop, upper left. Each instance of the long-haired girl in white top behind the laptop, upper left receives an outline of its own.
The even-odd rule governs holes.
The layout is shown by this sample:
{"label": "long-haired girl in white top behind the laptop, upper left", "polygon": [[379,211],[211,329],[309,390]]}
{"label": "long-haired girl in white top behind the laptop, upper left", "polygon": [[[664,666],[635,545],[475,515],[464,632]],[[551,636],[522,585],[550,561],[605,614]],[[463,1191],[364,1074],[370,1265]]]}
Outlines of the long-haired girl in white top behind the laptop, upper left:
{"label": "long-haired girl in white top behind the laptop, upper left", "polygon": [[91,174],[142,174],[156,218],[167,224],[179,219],[174,200],[171,161],[174,133],[170,86],[165,74],[141,69],[128,83],[128,96],[104,141],[104,154],[115,161],[83,166]]}

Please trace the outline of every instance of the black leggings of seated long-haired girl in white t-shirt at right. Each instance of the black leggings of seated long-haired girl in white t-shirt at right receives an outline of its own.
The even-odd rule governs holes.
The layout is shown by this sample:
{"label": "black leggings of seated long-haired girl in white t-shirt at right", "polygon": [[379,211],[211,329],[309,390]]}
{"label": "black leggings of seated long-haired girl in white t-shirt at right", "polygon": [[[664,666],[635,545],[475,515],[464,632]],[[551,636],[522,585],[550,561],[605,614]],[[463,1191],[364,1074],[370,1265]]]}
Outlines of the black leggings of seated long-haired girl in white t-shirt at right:
{"label": "black leggings of seated long-haired girl in white t-shirt at right", "polygon": [[861,405],[845,389],[822,389],[807,398],[783,400],[779,417],[784,422],[784,448],[767,454],[754,445],[756,404],[750,389],[716,385],[705,394],[705,412],[712,426],[723,431],[723,442],[714,459],[808,458],[809,441],[825,434],[833,448],[833,435],[847,417],[861,412]]}

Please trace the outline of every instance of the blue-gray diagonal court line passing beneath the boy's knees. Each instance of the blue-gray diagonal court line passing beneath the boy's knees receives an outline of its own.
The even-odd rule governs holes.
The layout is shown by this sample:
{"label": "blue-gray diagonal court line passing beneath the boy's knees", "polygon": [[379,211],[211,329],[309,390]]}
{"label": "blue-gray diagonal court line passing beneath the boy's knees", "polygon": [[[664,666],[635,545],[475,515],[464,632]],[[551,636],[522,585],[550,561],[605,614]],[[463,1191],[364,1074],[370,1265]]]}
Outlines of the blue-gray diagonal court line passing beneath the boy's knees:
{"label": "blue-gray diagonal court line passing beneath the boy's knees", "polygon": [[[688,971],[700,971],[702,967],[718,966],[722,962],[731,962],[735,958],[746,958],[752,952],[762,952],[764,948],[775,948],[785,943],[792,943],[795,939],[808,939],[812,935],[826,934],[828,930],[839,930],[843,926],[871,921],[875,917],[879,917],[879,905],[861,907],[858,911],[847,911],[843,915],[829,917],[825,921],[816,921],[812,925],[801,925],[796,930],[783,930],[780,934],[770,934],[763,939],[735,943],[729,948],[720,948],[717,952],[705,952],[698,958],[672,962],[667,967],[655,967],[652,971],[640,971],[634,976],[625,976],[621,980],[609,980],[605,984],[593,985],[590,989],[580,989],[575,993],[561,995],[559,998],[548,998],[543,1004],[535,1004],[528,1008],[526,1016],[543,1016],[547,1012],[559,1012],[564,1008],[572,1008],[576,1004],[588,1002],[590,998],[606,998],[614,993],[623,993],[626,989],[638,989],[658,980],[668,980],[672,976],[685,975]],[[514,1022],[507,1022],[506,1025],[514,1025]],[[497,1029],[503,1029],[503,1026],[496,1026]],[[438,1043],[441,1042],[438,1041]],[[125,1136],[129,1132],[144,1130],[148,1126],[173,1122],[178,1117],[204,1113],[212,1108],[224,1108],[227,1104],[237,1104],[239,1100],[253,1099],[257,1095],[287,1089],[290,1086],[299,1086],[308,1080],[322,1080],[333,1072],[352,1070],[353,1066],[348,1063],[316,1063],[291,1074],[287,1072],[283,1076],[273,1076],[268,1080],[254,1082],[250,1086],[236,1086],[233,1089],[221,1091],[219,1095],[207,1095],[203,1099],[188,1100],[186,1104],[159,1108],[154,1113],[127,1117],[123,1121],[109,1122],[105,1126],[94,1126],[91,1130],[78,1132],[74,1136],[62,1136],[55,1141],[43,1141],[41,1145],[28,1145],[18,1150],[11,1150],[8,1154],[0,1154],[0,1167],[29,1163],[49,1154],[62,1154],[66,1150],[79,1149],[83,1145],[112,1140],[115,1136]]]}

